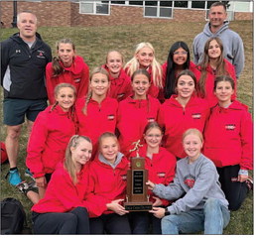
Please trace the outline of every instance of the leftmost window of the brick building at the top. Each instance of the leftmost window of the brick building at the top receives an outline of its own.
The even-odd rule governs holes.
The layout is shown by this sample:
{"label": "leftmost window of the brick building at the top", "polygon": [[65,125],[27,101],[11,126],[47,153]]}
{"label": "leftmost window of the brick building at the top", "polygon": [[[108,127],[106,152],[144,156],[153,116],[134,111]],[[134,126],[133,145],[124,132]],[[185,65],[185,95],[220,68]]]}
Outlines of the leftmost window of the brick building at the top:
{"label": "leftmost window of the brick building at the top", "polygon": [[108,1],[80,2],[79,8],[80,8],[81,14],[97,14],[97,15],[110,14],[110,6]]}

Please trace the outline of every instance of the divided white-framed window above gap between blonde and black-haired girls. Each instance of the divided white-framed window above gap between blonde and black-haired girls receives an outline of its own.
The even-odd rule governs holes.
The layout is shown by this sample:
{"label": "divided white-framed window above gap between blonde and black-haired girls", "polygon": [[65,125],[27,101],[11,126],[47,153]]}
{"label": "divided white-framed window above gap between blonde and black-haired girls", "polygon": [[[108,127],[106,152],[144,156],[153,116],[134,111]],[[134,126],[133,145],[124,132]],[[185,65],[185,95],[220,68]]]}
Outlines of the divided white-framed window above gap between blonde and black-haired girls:
{"label": "divided white-framed window above gap between blonde and black-haired girls", "polygon": [[173,17],[173,1],[145,1],[144,16],[157,18]]}

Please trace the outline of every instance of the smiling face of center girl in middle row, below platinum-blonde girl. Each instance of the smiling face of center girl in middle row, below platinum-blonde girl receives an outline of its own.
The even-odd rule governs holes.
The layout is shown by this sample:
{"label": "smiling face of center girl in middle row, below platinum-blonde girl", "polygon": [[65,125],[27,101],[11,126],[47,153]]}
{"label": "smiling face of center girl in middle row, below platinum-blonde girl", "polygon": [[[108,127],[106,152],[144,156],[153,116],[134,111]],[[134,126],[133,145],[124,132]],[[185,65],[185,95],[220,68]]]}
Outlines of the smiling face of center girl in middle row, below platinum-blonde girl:
{"label": "smiling face of center girl in middle row, below platinum-blonde girl", "polygon": [[146,99],[147,91],[150,88],[149,78],[145,74],[136,74],[132,80],[134,99]]}

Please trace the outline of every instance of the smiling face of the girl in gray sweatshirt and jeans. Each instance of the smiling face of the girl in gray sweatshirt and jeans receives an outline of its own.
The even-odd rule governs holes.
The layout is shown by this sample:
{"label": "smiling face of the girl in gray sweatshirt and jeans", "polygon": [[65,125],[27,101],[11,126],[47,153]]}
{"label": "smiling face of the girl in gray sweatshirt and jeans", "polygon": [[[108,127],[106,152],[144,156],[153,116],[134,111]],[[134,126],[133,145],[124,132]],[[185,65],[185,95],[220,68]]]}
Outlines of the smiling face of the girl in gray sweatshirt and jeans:
{"label": "smiling face of the girl in gray sweatshirt and jeans", "polygon": [[185,153],[189,156],[191,161],[194,161],[200,155],[202,142],[197,135],[189,134],[183,141]]}

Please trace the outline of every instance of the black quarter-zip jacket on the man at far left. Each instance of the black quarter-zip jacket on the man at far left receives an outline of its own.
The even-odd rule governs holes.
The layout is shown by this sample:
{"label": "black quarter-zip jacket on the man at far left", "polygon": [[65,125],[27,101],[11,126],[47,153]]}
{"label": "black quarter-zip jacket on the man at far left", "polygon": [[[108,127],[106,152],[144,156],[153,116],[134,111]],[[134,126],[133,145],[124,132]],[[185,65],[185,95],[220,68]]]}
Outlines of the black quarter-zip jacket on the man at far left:
{"label": "black quarter-zip jacket on the man at far left", "polygon": [[14,34],[1,43],[1,85],[5,98],[47,98],[45,71],[52,61],[51,48],[37,33],[36,44],[29,46]]}

